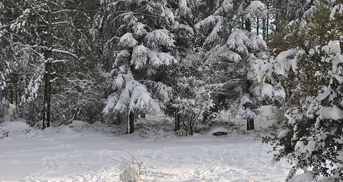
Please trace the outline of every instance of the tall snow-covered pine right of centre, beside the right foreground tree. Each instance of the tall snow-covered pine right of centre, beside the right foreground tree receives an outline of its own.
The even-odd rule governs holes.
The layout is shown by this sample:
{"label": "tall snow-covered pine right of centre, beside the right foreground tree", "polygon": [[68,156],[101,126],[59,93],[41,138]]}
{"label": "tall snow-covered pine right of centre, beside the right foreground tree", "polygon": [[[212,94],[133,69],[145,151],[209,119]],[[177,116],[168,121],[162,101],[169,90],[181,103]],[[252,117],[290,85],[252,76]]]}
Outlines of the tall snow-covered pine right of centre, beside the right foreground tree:
{"label": "tall snow-covered pine right of centre, beside the right foreground tree", "polygon": [[216,55],[207,61],[217,65],[218,72],[222,73],[217,81],[225,83],[226,91],[218,94],[221,101],[217,103],[224,103],[224,109],[230,110],[232,116],[239,113],[247,119],[247,129],[254,129],[253,117],[261,97],[254,93],[249,71],[254,60],[265,56],[267,45],[251,31],[251,19],[263,18],[265,5],[259,0],[207,3],[211,7],[205,13],[208,16],[195,27],[206,38],[203,46],[209,51],[207,54]]}

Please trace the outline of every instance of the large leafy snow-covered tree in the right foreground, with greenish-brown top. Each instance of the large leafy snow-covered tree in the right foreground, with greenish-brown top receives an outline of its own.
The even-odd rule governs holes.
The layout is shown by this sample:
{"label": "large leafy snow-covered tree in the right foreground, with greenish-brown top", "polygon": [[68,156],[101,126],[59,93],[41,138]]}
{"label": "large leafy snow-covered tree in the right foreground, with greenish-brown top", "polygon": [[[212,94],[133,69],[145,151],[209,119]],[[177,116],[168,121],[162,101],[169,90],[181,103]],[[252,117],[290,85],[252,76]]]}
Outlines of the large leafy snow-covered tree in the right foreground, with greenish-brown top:
{"label": "large leafy snow-covered tree in the right foreground, with greenish-brown top", "polygon": [[295,32],[283,39],[289,48],[270,62],[272,67],[267,64],[292,92],[282,132],[272,126],[272,137],[263,138],[277,151],[276,161],[292,163],[286,181],[310,167],[314,177],[343,181],[342,10],[342,1],[315,1],[301,25],[289,23]]}

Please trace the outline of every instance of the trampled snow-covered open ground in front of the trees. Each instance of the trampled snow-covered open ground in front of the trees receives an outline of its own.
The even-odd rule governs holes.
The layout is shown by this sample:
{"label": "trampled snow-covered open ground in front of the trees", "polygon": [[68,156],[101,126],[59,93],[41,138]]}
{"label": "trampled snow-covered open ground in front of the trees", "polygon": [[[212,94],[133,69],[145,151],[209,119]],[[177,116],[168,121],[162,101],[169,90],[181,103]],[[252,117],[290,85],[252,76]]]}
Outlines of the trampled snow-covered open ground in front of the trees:
{"label": "trampled snow-covered open ground in front of the trees", "polygon": [[[268,123],[261,118],[257,127]],[[160,182],[276,182],[284,181],[291,168],[286,161],[272,165],[271,147],[255,140],[254,133],[142,138],[138,132],[113,135],[101,124],[81,125],[86,124],[23,132],[24,125],[17,123],[9,137],[0,139],[0,181],[119,181],[123,160],[132,156],[162,175]]]}

